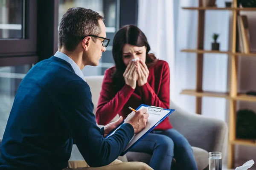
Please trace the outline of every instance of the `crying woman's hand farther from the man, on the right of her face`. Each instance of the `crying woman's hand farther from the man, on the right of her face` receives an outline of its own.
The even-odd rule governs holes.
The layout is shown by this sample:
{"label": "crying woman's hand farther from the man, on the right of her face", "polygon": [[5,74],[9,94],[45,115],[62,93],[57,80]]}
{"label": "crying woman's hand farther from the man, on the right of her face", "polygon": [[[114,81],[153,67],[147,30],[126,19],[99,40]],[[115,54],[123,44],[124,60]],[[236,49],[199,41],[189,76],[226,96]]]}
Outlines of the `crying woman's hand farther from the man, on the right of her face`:
{"label": "crying woman's hand farther from the man, on the right of her face", "polygon": [[137,73],[138,73],[138,86],[143,86],[148,82],[148,67],[147,65],[140,60],[138,63],[138,68],[137,68]]}

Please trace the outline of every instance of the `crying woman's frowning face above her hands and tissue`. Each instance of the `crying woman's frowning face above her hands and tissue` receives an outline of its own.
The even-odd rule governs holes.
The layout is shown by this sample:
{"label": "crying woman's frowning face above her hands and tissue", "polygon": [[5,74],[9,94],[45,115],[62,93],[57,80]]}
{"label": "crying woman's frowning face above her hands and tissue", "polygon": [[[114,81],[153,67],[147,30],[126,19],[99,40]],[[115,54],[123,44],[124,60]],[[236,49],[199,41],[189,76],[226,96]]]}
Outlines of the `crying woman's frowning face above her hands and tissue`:
{"label": "crying woman's frowning face above her hands and tissue", "polygon": [[130,44],[125,44],[122,49],[122,59],[127,66],[131,59],[140,58],[143,62],[146,62],[146,46],[137,47]]}

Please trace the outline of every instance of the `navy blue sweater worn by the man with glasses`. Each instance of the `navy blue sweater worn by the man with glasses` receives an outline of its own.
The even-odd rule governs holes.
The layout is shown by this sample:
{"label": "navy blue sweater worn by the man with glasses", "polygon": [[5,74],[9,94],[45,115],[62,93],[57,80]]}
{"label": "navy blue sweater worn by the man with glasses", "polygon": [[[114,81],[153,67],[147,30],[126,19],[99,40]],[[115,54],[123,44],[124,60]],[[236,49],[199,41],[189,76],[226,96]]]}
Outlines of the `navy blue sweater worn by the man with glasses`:
{"label": "navy blue sweater worn by the man with glasses", "polygon": [[96,126],[88,84],[57,57],[34,65],[17,90],[3,135],[0,170],[61,170],[73,139],[90,167],[114,161],[134,129],[123,124],[108,139]]}

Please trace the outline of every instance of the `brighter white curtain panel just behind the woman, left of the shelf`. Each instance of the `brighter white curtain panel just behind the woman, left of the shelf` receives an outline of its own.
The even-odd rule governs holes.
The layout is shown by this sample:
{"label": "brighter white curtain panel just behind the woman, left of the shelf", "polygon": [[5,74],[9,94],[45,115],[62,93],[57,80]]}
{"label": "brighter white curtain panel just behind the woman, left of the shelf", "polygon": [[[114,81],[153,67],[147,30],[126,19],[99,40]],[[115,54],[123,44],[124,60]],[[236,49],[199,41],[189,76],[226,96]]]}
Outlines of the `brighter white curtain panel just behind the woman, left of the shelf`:
{"label": "brighter white curtain panel just behind the woman, left of the shelf", "polygon": [[[171,82],[175,81],[174,12],[172,0],[139,0],[138,27],[146,35],[152,53],[169,63]],[[174,85],[170,88],[174,98]]]}

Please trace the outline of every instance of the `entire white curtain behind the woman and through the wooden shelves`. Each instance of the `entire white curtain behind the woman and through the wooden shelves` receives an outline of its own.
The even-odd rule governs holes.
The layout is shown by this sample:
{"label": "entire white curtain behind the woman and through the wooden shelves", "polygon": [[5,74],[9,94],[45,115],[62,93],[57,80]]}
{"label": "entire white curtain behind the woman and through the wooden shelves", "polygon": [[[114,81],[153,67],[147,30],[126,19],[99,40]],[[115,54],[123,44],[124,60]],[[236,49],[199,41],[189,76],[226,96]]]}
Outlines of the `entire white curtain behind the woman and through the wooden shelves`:
{"label": "entire white curtain behind the woman and through the wooden shelves", "polygon": [[[224,7],[224,1],[217,1]],[[196,48],[198,11],[182,7],[198,6],[195,0],[139,0],[138,27],[148,38],[152,51],[169,63],[171,99],[187,111],[195,113],[195,96],[180,95],[182,89],[195,89],[196,54],[180,52]],[[220,34],[220,50],[228,50],[228,11],[206,11],[204,49],[211,49],[212,34]],[[205,54],[203,89],[227,91],[227,55]],[[204,97],[202,114],[226,119],[226,100]]]}

